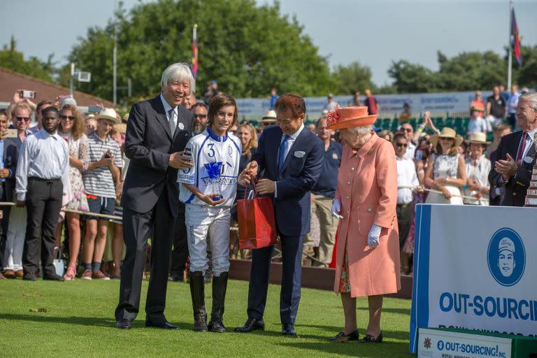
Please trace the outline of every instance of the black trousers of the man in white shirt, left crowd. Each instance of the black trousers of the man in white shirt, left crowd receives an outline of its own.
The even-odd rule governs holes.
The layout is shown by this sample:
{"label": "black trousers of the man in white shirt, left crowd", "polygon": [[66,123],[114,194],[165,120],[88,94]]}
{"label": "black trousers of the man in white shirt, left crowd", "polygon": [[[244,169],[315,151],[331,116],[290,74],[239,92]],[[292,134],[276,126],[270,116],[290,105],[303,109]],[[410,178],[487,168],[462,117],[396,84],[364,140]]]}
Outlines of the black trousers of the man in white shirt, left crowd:
{"label": "black trousers of the man in white shirt, left crowd", "polygon": [[22,250],[22,268],[25,273],[37,273],[41,257],[42,276],[56,274],[52,259],[54,259],[55,232],[59,210],[62,208],[63,191],[64,185],[60,179],[28,178],[26,193],[28,219]]}

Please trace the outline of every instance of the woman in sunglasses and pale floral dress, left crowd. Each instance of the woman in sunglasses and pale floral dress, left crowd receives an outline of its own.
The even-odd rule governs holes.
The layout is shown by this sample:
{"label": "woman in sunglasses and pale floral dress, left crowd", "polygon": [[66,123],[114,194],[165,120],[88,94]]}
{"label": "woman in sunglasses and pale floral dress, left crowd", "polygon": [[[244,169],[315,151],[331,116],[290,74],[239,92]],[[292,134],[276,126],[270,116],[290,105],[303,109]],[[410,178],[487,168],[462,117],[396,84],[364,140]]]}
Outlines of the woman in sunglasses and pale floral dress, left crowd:
{"label": "woman in sunglasses and pale floral dress, left crowd", "polygon": [[[88,165],[87,136],[84,134],[85,125],[82,115],[75,106],[66,104],[59,114],[58,135],[69,143],[69,189],[68,200],[64,209],[89,211],[82,180],[82,172]],[[64,275],[66,280],[74,280],[76,277],[76,260],[80,250],[80,215],[65,213],[67,227],[69,228],[69,265]],[[62,233],[60,222],[57,228],[57,236]]]}

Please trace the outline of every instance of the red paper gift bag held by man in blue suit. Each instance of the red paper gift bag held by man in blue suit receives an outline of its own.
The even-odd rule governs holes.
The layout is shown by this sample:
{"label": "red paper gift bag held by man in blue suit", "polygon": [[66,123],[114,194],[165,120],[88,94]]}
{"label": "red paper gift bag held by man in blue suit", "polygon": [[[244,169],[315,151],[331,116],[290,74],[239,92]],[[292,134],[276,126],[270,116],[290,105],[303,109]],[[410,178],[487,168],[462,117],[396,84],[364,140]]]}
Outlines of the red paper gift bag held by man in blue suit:
{"label": "red paper gift bag held by man in blue suit", "polygon": [[[255,187],[254,187],[255,192]],[[259,249],[278,243],[272,198],[237,200],[238,248]]]}

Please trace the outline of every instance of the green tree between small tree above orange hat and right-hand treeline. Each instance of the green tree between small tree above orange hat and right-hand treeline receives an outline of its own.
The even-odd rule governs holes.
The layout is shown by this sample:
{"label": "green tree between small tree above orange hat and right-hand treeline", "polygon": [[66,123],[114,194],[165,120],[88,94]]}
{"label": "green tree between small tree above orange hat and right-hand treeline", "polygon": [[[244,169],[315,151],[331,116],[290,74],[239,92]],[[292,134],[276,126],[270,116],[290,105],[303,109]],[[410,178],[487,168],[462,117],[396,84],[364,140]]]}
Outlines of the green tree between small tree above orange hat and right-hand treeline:
{"label": "green tree between small tree above orange hat and right-hand treeline", "polygon": [[404,59],[392,61],[388,76],[394,79],[398,93],[435,92],[437,86],[433,71]]}

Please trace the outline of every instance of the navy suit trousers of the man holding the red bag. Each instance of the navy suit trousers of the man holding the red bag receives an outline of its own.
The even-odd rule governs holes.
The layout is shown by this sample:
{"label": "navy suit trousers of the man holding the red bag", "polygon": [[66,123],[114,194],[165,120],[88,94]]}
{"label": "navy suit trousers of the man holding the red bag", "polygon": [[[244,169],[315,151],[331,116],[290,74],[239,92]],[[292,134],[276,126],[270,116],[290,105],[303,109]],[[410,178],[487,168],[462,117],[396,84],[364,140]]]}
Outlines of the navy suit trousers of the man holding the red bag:
{"label": "navy suit trousers of the man holding the red bag", "polygon": [[[281,236],[282,288],[280,291],[280,320],[294,324],[299,310],[302,278],[302,245],[304,236]],[[252,270],[248,287],[248,317],[261,320],[266,306],[268,275],[271,269],[273,246],[252,250]]]}

